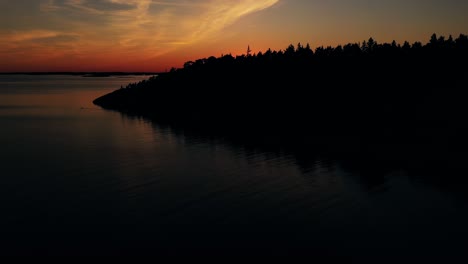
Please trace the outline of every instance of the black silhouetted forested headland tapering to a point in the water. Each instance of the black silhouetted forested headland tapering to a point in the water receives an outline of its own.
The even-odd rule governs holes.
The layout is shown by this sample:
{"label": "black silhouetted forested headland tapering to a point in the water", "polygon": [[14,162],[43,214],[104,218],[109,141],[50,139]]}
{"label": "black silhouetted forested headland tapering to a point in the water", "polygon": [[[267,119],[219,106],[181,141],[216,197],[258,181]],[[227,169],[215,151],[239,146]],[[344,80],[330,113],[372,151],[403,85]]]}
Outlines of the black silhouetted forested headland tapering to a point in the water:
{"label": "black silhouetted forested headland tapering to a point in the water", "polygon": [[186,62],[94,103],[267,144],[455,166],[468,156],[467,59],[463,34],[249,49]]}

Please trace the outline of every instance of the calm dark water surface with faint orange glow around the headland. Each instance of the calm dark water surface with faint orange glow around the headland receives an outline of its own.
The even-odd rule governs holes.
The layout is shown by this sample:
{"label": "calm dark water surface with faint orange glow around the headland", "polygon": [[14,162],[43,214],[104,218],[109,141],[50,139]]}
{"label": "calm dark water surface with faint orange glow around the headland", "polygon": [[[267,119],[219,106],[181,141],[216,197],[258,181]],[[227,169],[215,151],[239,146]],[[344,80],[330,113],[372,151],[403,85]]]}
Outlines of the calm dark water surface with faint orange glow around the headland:
{"label": "calm dark water surface with faint orange glow around the headland", "polygon": [[465,254],[467,200],[423,177],[92,104],[142,78],[0,75],[2,255]]}

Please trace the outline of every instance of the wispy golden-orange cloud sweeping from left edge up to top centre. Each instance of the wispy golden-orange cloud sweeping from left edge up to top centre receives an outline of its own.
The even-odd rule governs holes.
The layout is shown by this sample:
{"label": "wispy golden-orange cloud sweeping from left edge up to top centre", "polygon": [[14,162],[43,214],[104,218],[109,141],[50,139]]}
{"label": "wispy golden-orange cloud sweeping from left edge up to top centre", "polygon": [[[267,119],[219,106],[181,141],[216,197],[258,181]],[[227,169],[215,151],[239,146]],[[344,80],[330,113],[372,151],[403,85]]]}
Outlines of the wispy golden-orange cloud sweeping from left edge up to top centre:
{"label": "wispy golden-orange cloud sweeping from left edge up to top centre", "polygon": [[[1,0],[0,0],[1,1]],[[0,53],[67,58],[158,57],[213,39],[239,18],[279,0],[40,0],[44,21],[0,31]],[[57,55],[58,56],[58,55]]]}

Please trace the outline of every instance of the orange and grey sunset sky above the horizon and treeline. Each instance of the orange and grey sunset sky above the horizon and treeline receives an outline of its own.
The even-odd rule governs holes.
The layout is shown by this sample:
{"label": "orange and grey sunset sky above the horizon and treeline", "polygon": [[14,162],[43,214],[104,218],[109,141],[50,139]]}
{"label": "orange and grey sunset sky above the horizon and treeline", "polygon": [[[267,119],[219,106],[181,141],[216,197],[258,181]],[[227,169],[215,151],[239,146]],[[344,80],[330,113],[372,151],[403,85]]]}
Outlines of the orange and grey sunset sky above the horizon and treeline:
{"label": "orange and grey sunset sky above the horizon and treeline", "polygon": [[0,72],[167,71],[223,54],[468,34],[467,0],[0,0]]}

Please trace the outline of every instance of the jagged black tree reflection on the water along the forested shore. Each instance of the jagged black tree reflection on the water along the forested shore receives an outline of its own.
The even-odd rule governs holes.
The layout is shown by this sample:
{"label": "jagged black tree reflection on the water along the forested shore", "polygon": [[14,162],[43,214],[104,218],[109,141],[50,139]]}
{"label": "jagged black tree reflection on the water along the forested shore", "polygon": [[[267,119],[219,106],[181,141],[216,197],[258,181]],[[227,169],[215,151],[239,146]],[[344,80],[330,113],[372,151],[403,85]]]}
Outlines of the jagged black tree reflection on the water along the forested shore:
{"label": "jagged black tree reflection on the water along the forested shore", "polygon": [[334,156],[322,152],[321,149],[311,148],[309,145],[290,146],[282,144],[281,141],[257,141],[256,137],[222,134],[193,126],[170,125],[159,120],[128,113],[121,113],[121,116],[123,120],[128,118],[147,123],[152,126],[155,135],[171,135],[174,137],[172,140],[176,140],[188,148],[197,150],[202,147],[212,150],[226,148],[236,158],[244,159],[252,166],[274,169],[283,165],[296,167],[298,170],[296,173],[306,178],[315,174],[330,173],[330,171],[340,168],[353,175],[359,186],[367,191],[382,189],[388,175],[404,173],[410,177],[413,176],[413,174],[408,173],[408,168],[402,164],[379,163],[377,160],[372,160],[372,157]]}

